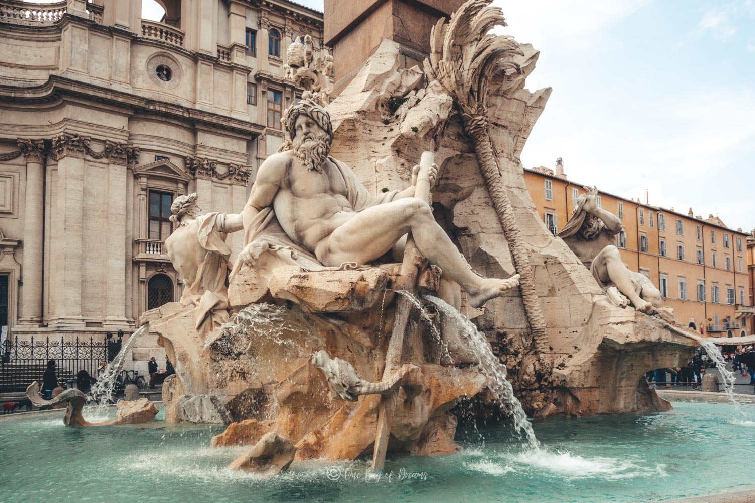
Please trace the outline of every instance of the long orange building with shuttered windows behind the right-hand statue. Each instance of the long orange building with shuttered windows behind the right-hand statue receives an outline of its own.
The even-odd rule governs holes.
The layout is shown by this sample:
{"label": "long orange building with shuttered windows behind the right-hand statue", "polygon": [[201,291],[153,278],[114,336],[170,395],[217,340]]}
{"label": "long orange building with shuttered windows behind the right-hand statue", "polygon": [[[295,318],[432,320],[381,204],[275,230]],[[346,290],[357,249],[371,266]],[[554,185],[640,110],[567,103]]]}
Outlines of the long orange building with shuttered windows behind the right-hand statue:
{"label": "long orange building with shuttered windows behind the right-hand statue", "polygon": [[[566,178],[561,158],[555,171],[538,167],[525,170],[524,177],[538,213],[556,234],[574,213],[585,184]],[[639,198],[599,194],[599,206],[623,224],[616,246],[624,263],[650,278],[679,321],[712,337],[755,333],[747,325],[755,314],[755,270],[748,265],[755,263],[755,238],[713,215],[694,216],[692,208],[677,213]]]}

